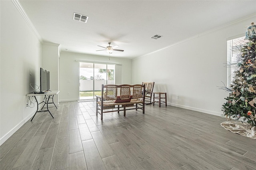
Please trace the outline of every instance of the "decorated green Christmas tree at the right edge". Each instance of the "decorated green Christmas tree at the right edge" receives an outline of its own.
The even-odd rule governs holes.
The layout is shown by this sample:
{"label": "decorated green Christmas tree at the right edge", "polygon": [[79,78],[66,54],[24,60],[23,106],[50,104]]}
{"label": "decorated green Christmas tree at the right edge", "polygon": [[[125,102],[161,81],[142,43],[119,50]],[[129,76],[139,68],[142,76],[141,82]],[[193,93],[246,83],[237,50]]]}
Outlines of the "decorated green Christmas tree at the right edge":
{"label": "decorated green Christmas tree at the right edge", "polygon": [[256,25],[246,31],[248,43],[239,47],[238,70],[230,85],[230,94],[222,105],[226,119],[247,121],[250,127],[256,126]]}

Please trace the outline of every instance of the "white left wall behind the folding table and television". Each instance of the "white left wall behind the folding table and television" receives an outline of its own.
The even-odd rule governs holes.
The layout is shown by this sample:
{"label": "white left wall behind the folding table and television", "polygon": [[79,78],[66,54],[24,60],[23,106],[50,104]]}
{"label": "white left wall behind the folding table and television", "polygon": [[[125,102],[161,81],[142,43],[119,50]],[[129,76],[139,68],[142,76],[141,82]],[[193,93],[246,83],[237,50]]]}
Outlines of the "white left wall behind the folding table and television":
{"label": "white left wall behind the folding table and television", "polygon": [[[11,1],[0,1],[0,144],[36,111],[26,108],[30,83],[40,84],[41,43]],[[30,75],[30,70],[32,75]]]}

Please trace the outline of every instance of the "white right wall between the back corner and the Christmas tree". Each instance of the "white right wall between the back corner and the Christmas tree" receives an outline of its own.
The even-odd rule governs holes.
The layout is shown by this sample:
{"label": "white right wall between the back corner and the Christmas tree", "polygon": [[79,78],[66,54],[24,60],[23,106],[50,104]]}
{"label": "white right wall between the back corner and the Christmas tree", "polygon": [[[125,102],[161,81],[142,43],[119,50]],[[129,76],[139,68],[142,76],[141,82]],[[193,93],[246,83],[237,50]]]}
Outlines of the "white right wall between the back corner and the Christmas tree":
{"label": "white right wall between the back corner and the Christmas tree", "polygon": [[225,84],[227,81],[226,38],[245,35],[244,27],[255,18],[234,22],[134,59],[132,83],[154,81],[154,92],[166,92],[168,105],[220,115],[224,97],[228,96],[217,87],[223,86],[221,81]]}

